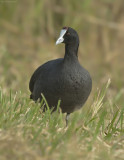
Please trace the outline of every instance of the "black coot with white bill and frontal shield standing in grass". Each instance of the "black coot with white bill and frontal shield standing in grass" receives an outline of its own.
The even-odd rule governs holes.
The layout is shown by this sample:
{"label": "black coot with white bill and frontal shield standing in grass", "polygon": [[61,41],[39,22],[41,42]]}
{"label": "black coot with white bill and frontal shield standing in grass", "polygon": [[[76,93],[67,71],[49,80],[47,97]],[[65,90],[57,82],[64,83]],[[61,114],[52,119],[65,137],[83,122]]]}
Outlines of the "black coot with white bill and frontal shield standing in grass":
{"label": "black coot with white bill and frontal shield standing in grass", "polygon": [[49,107],[57,108],[61,100],[61,109],[69,114],[80,109],[86,102],[91,89],[90,74],[78,61],[79,37],[71,27],[63,27],[56,44],[65,43],[65,56],[41,65],[32,75],[29,83],[30,98],[34,101],[45,96]]}

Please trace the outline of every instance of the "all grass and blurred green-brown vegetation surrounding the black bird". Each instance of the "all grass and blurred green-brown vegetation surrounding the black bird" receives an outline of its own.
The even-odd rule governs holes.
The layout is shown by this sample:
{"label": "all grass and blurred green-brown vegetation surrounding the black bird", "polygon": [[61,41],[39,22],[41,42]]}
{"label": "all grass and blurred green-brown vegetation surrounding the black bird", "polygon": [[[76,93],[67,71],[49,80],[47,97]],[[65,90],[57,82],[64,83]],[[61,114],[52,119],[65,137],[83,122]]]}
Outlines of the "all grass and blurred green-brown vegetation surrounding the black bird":
{"label": "all grass and blurred green-brown vegetation surrounding the black bird", "polygon": [[[28,89],[39,65],[64,56],[63,26],[77,30],[93,79],[66,129],[61,114],[41,116]],[[124,159],[123,61],[123,0],[0,0],[0,159]]]}

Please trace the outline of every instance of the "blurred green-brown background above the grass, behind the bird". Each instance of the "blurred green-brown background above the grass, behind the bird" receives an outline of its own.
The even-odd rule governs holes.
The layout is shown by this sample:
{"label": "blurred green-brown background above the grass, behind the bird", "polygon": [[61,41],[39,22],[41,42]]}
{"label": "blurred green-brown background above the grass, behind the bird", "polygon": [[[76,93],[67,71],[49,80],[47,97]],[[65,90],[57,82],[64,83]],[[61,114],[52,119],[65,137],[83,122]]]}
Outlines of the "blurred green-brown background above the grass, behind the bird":
{"label": "blurred green-brown background above the grass, behind the bird", "polygon": [[[79,61],[93,79],[93,91],[109,78],[109,96],[124,91],[123,0],[0,0],[0,86],[29,96],[34,70],[64,56],[55,46],[63,26],[77,30]],[[124,92],[123,92],[124,93]],[[122,105],[122,101],[118,102]]]}

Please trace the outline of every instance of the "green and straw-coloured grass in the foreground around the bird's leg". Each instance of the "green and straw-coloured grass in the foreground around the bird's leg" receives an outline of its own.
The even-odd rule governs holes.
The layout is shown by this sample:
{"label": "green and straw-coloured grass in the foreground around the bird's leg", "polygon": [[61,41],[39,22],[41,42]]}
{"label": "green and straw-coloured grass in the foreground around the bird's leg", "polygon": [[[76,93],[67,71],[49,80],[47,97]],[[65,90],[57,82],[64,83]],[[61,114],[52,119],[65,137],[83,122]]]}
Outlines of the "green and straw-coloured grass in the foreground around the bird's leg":
{"label": "green and straw-coloured grass in the foreground around the bird's leg", "polygon": [[0,159],[124,159],[124,108],[106,99],[109,84],[91,107],[71,115],[67,128],[61,112],[42,112],[45,97],[35,104],[21,92],[0,89]]}

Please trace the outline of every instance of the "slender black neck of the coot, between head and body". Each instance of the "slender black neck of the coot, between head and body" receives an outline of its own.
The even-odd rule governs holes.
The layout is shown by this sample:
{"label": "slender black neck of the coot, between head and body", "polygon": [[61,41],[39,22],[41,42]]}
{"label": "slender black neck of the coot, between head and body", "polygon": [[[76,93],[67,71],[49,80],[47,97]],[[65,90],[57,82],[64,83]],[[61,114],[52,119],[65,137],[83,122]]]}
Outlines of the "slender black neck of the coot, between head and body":
{"label": "slender black neck of the coot, between head and body", "polygon": [[66,44],[65,45],[65,56],[64,56],[64,61],[68,60],[78,60],[78,47],[79,43],[77,44]]}

